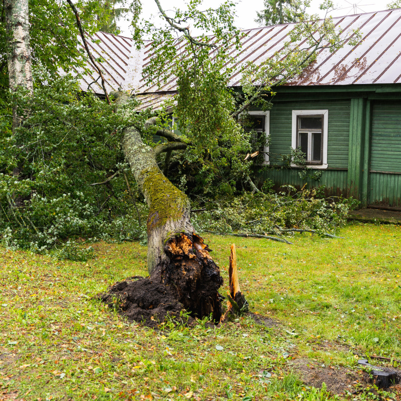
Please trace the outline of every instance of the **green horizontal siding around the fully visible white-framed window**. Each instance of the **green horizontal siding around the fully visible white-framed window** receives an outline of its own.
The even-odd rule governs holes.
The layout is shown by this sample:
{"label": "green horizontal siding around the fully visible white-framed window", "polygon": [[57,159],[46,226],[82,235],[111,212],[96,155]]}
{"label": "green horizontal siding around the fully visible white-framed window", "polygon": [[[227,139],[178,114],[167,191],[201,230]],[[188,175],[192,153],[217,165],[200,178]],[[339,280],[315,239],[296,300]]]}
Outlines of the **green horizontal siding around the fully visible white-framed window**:
{"label": "green horizontal siding around the fully visible white-framed window", "polygon": [[[350,124],[350,101],[291,101],[275,102],[270,111],[270,152],[288,154],[291,150],[292,110],[328,109],[328,150],[329,168],[348,167],[348,136]],[[279,156],[271,155],[276,163]]]}

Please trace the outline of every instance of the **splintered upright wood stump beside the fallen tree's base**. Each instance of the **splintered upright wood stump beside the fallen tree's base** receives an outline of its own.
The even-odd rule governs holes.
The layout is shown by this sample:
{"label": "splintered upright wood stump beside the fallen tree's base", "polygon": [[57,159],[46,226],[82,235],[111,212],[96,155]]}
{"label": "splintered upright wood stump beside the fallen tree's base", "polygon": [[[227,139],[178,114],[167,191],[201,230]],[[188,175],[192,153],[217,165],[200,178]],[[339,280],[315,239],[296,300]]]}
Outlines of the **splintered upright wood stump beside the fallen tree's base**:
{"label": "splintered upright wood stump beside the fallen tree's base", "polygon": [[227,312],[222,316],[221,322],[230,320],[233,316],[239,316],[244,312],[248,312],[248,302],[241,292],[238,280],[237,254],[235,252],[235,244],[231,245],[231,253],[229,258],[229,291],[227,291]]}

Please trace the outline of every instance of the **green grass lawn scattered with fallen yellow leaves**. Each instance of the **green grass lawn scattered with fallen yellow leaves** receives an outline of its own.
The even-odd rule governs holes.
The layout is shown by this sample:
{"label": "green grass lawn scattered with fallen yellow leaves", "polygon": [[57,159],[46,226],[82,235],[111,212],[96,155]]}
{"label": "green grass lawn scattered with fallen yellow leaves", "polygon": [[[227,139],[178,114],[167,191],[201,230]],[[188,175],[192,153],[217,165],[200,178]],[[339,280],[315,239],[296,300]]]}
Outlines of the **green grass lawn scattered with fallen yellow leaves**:
{"label": "green grass lawn scattered with fallen yellow leaves", "polygon": [[[401,227],[356,223],[341,235],[296,235],[286,245],[205,234],[222,294],[236,244],[254,313],[216,328],[167,321],[150,330],[91,299],[147,274],[138,243],[96,243],[82,263],[0,249],[0,400],[334,399],[311,391],[302,372],[362,375],[355,354],[401,359]],[[375,397],[401,396],[364,390],[348,399]]]}

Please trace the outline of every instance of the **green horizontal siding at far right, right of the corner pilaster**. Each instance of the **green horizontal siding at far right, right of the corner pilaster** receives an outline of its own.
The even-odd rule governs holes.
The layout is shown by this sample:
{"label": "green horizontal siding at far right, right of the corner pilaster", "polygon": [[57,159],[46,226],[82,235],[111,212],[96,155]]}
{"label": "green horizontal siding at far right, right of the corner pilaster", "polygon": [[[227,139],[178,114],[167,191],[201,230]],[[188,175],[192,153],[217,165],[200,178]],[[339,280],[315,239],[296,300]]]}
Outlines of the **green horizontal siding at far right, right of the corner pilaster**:
{"label": "green horizontal siding at far right, right of the corner pilaster", "polygon": [[371,170],[401,172],[401,103],[373,105]]}

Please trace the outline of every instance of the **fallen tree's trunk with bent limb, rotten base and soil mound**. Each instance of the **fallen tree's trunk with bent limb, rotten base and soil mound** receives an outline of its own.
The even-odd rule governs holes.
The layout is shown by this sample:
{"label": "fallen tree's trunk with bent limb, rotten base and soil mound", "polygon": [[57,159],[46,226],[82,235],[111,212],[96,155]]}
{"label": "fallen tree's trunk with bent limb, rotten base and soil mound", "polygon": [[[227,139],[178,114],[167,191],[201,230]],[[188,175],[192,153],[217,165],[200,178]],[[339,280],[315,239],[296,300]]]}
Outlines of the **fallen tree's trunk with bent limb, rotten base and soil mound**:
{"label": "fallen tree's trunk with bent limb, rotten base and soil mound", "polygon": [[[112,95],[117,106],[129,99],[124,92]],[[145,127],[155,122],[156,119],[149,119]],[[158,154],[182,149],[186,144],[170,131],[158,134],[172,142],[151,148],[142,141],[138,128],[131,126],[124,130],[122,149],[149,206],[146,222],[149,278],[119,283],[111,288],[109,295],[115,296],[116,291],[119,294],[123,290],[119,294],[123,310],[129,310],[125,314],[135,320],[154,314],[162,320],[166,312],[180,309],[172,301],[176,300],[194,316],[211,316],[219,322],[222,298],[218,290],[223,284],[220,269],[210,256],[209,247],[194,233],[188,197],[164,176],[156,162]],[[142,291],[145,287],[146,291]],[[154,291],[162,291],[166,299],[156,302],[157,297],[150,296]],[[110,296],[102,299],[109,302]],[[159,308],[156,313],[154,306]]]}

